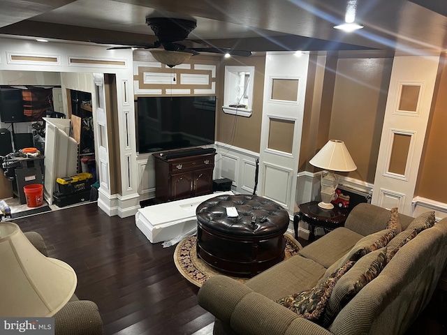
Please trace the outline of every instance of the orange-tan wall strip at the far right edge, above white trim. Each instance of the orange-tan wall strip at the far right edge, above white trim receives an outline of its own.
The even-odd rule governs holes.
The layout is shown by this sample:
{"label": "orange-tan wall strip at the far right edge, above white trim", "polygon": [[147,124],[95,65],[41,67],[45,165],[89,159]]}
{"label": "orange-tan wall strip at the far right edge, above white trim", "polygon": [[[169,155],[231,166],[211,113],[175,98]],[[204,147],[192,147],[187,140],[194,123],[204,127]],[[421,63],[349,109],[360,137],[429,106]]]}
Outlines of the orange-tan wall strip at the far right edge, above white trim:
{"label": "orange-tan wall strip at the far right edge, above white trim", "polygon": [[446,203],[447,177],[445,177],[444,172],[447,170],[445,135],[447,125],[447,61],[445,56],[441,61],[442,72],[439,75],[437,87],[435,87],[436,96],[434,97],[432,117],[430,117],[427,129],[415,195]]}

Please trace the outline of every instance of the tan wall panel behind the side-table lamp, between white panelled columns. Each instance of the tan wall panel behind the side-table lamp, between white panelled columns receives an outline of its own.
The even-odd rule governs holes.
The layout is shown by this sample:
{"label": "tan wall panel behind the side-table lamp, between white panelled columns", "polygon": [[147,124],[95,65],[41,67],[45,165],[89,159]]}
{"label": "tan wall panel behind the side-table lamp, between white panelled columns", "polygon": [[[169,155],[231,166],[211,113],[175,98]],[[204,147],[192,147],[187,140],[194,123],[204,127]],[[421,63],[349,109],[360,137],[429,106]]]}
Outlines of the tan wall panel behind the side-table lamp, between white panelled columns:
{"label": "tan wall panel behind the side-table lamp, between white panelled columns", "polygon": [[357,165],[346,175],[374,183],[391,58],[339,59],[329,139],[342,140]]}

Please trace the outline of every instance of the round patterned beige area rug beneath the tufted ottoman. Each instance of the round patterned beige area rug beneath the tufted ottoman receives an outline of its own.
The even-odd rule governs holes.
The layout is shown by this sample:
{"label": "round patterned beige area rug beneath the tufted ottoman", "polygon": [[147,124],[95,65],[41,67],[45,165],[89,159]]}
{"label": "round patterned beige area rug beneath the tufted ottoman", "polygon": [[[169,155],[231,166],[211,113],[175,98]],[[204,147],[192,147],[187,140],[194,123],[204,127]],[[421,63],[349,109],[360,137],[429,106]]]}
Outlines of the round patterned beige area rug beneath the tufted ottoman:
{"label": "round patterned beige area rug beneath the tufted ottoman", "polygon": [[[286,233],[284,237],[286,237],[286,249],[284,250],[284,260],[286,260],[296,255],[302,249],[302,246],[291,234]],[[223,273],[213,269],[197,257],[196,241],[196,236],[189,236],[179,241],[174,252],[174,262],[180,274],[200,288],[208,278]],[[226,274],[223,275],[228,276]],[[229,277],[241,283],[249,280],[249,278]]]}

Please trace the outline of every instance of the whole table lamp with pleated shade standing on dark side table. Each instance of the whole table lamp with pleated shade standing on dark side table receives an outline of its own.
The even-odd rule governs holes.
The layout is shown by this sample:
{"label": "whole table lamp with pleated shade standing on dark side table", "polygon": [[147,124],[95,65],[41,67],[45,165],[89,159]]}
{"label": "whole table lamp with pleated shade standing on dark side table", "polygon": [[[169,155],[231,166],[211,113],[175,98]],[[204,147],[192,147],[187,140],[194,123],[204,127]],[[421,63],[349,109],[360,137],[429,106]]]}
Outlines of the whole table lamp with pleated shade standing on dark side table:
{"label": "whole table lamp with pleated shade standing on dark side table", "polygon": [[349,172],[357,169],[343,141],[329,140],[320,151],[309,161],[310,164],[327,170],[321,174],[321,202],[318,207],[332,209],[330,202],[335,199],[338,186],[338,176],[334,171]]}

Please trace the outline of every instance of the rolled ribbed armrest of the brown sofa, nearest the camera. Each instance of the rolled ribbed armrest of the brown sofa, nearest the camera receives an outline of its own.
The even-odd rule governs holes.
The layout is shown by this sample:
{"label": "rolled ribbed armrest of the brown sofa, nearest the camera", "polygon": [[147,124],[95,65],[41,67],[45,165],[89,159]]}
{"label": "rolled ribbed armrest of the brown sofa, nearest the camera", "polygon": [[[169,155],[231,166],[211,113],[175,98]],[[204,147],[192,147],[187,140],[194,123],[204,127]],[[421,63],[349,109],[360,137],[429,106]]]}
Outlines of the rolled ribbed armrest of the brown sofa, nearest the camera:
{"label": "rolled ribbed armrest of the brown sofa, nearest the camera", "polygon": [[331,334],[226,276],[208,279],[198,292],[198,303],[237,334]]}

